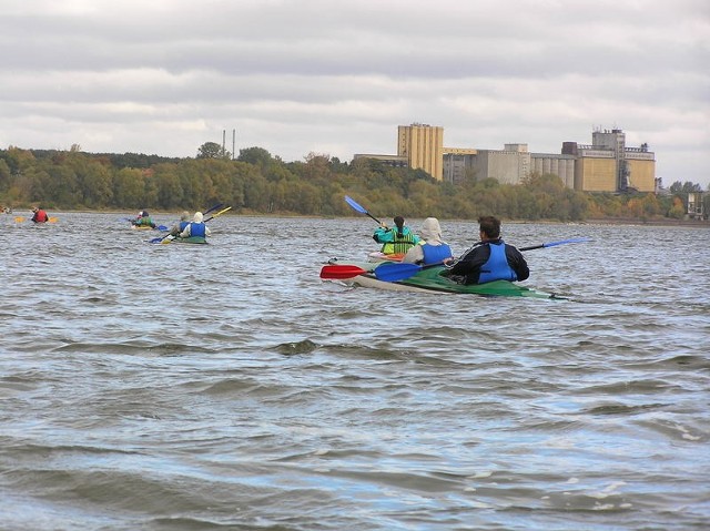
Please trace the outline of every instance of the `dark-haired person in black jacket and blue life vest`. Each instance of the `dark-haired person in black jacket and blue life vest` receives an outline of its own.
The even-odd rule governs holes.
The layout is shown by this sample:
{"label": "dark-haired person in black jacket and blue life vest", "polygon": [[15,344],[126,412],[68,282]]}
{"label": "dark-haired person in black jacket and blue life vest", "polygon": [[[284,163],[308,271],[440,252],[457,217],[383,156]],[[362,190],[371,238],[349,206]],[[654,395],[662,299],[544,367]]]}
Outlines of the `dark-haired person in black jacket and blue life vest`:
{"label": "dark-haired person in black jacket and blue life vest", "polygon": [[448,276],[459,284],[484,284],[493,280],[526,280],[530,276],[523,254],[500,238],[500,219],[478,218],[480,242],[458,259],[448,262]]}

